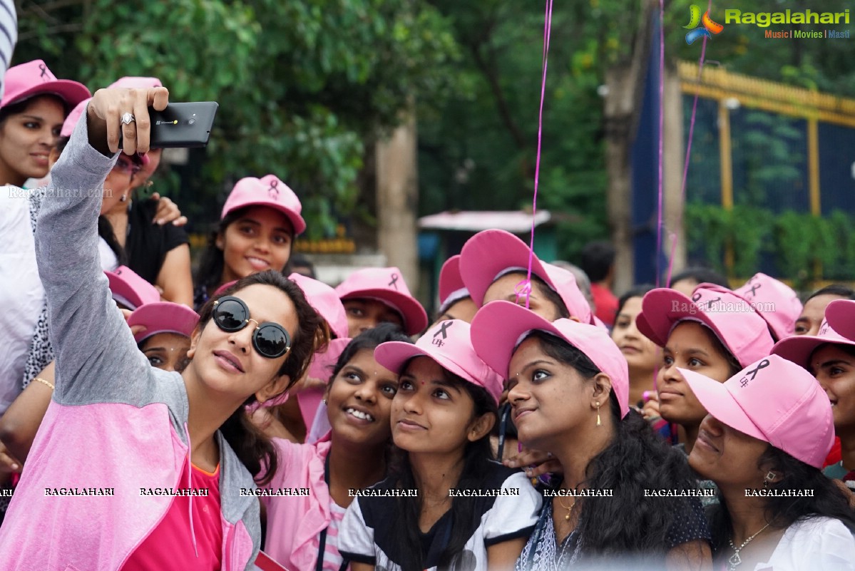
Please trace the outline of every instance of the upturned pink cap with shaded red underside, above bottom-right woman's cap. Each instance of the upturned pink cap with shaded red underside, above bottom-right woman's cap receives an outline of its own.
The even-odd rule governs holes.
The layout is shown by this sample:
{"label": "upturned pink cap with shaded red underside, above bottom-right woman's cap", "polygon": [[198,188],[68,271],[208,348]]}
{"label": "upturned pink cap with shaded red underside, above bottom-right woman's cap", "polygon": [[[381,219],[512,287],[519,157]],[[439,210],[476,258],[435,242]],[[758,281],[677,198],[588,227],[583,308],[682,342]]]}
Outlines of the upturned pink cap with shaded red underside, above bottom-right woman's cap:
{"label": "upturned pink cap with shaded red underside, above bottom-right woman's cap", "polygon": [[714,284],[700,284],[691,298],[665,287],[648,291],[635,318],[641,334],[660,347],[681,321],[710,327],[743,367],[769,355],[775,344],[769,325],[746,300]]}

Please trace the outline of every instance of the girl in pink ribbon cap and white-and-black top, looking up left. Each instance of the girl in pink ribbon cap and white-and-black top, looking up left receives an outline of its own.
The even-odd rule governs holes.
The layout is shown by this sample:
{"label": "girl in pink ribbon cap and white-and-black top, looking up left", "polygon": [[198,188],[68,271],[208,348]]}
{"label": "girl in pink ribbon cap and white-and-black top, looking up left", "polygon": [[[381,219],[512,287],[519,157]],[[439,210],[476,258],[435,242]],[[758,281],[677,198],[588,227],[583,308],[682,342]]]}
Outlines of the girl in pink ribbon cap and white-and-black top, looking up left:
{"label": "girl in pink ribbon cap and white-and-black top, looking up left", "polygon": [[[380,344],[374,356],[400,373],[392,439],[401,455],[339,528],[352,571],[512,568],[540,495],[522,472],[492,462],[501,381],[475,355],[469,324],[442,321],[415,345]],[[417,497],[394,497],[396,490]],[[481,490],[492,495],[471,493]]]}

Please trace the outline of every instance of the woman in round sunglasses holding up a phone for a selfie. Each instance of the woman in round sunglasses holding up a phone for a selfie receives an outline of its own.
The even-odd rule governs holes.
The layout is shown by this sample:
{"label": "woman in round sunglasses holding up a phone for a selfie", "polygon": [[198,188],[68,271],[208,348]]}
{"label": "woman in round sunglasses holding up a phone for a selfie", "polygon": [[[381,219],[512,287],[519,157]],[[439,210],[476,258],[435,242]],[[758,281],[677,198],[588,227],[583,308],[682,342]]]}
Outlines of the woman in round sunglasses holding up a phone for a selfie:
{"label": "woman in round sunglasses holding up a phone for a selfie", "polygon": [[6,568],[231,571],[257,555],[258,501],[241,490],[277,457],[244,407],[285,391],[323,339],[298,287],[269,272],[205,304],[182,374],[139,352],[95,221],[120,129],[126,153],[148,150],[148,108],[167,101],[162,87],[97,91],[54,168],[36,251],[56,387],[0,530]]}

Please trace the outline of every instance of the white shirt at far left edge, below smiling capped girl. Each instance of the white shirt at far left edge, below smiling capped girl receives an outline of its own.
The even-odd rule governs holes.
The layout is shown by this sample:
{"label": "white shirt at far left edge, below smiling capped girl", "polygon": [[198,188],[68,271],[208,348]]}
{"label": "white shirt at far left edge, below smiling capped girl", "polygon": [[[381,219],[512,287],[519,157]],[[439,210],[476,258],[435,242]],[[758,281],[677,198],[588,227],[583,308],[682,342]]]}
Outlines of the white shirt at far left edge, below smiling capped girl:
{"label": "white shirt at far left edge, below smiling capped girl", "polygon": [[28,196],[15,186],[0,187],[0,415],[21,394],[30,340],[44,303]]}

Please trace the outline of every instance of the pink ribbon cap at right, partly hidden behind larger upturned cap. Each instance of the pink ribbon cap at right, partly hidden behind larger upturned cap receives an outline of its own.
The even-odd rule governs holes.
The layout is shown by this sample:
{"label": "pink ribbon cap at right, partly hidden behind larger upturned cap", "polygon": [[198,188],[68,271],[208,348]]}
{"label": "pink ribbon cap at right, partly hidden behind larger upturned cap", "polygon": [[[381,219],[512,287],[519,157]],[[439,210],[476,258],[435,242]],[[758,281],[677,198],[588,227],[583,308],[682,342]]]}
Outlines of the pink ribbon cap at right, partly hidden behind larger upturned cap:
{"label": "pink ribbon cap at right, partly hidden behind larger upturned cap", "polygon": [[754,274],[745,286],[736,288],[734,293],[745,299],[764,318],[775,338],[793,335],[802,304],[799,294],[792,287],[766,274]]}

